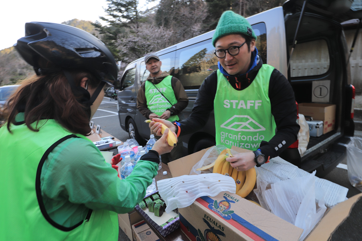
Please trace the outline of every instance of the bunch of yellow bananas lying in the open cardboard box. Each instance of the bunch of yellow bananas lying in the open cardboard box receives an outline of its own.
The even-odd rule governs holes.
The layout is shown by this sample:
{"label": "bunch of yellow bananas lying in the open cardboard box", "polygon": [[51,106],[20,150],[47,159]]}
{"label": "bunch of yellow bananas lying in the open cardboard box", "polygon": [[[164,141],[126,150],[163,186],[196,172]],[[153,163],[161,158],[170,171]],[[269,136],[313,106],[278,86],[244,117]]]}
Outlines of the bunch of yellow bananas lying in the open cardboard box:
{"label": "bunch of yellow bananas lying in the open cardboard box", "polygon": [[[228,154],[228,155],[227,155]],[[238,171],[230,165],[230,162],[226,161],[226,158],[233,157],[230,149],[223,150],[215,162],[205,167],[196,169],[196,171],[204,171],[213,167],[213,173],[220,173],[222,175],[231,176],[236,183],[236,194],[242,198],[245,198],[254,188],[256,182],[255,168],[251,168],[248,171]]]}

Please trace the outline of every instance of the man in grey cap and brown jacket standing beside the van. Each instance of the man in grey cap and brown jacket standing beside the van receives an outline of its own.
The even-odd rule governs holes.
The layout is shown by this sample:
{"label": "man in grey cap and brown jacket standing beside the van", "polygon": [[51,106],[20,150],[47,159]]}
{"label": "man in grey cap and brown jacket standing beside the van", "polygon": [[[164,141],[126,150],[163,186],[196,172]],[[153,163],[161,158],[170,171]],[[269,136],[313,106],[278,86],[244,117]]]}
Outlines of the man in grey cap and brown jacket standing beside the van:
{"label": "man in grey cap and brown jacket standing beside the van", "polygon": [[[166,71],[161,71],[162,62],[156,53],[144,58],[146,69],[150,72],[137,94],[137,108],[147,119],[161,118],[171,122],[180,120],[180,113],[189,103],[189,98],[180,80]],[[158,138],[158,137],[157,137]],[[161,155],[163,163],[182,157],[182,141],[176,147]]]}

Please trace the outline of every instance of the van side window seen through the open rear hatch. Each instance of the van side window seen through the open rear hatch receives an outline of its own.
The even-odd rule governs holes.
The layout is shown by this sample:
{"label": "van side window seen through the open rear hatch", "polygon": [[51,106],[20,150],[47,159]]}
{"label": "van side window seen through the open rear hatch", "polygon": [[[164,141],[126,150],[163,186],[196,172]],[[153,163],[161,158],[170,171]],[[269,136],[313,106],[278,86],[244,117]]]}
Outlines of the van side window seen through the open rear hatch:
{"label": "van side window seen through the open rear hatch", "polygon": [[[289,46],[289,49],[291,49],[291,46]],[[298,43],[290,59],[290,76],[325,74],[329,70],[329,58],[328,45],[324,39]]]}

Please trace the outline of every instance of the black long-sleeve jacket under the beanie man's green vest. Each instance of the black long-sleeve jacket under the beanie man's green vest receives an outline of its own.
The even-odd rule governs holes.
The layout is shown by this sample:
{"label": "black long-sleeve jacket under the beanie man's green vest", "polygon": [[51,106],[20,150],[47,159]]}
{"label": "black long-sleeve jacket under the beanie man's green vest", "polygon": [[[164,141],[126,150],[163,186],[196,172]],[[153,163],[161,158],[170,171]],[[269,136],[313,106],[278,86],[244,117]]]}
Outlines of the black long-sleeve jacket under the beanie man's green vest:
{"label": "black long-sleeve jacket under the beanie man's green vest", "polygon": [[[231,86],[236,90],[246,89],[258,74],[262,66],[260,59],[249,73],[243,76],[228,78]],[[214,99],[216,95],[218,77],[216,71],[210,74],[203,81],[198,91],[194,107],[191,115],[180,121],[180,135],[194,133],[201,129],[209,119],[210,112],[214,109]],[[237,88],[236,83],[240,86]],[[266,159],[278,156],[283,150],[294,143],[297,139],[300,126],[296,123],[297,110],[295,104],[294,91],[288,80],[277,69],[274,69],[269,81],[269,99],[271,105],[271,113],[274,116],[277,132],[269,142],[262,141],[260,150]],[[280,147],[281,143],[286,143]],[[279,147],[278,147],[279,146]],[[278,148],[275,148],[278,147]]]}

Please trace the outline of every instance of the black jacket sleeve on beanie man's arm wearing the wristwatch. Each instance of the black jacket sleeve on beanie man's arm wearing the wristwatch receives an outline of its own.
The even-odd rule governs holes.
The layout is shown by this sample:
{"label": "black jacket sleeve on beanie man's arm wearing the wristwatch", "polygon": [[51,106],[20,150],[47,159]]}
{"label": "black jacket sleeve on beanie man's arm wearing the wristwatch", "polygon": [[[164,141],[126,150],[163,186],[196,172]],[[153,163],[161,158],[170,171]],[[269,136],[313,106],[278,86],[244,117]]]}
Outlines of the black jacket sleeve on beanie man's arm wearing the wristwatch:
{"label": "black jacket sleeve on beanie man's arm wearing the wristwatch", "polygon": [[269,82],[271,114],[274,116],[277,132],[269,142],[260,143],[261,153],[266,159],[278,156],[297,139],[300,126],[297,124],[297,110],[294,91],[288,80],[277,69],[271,73]]}

